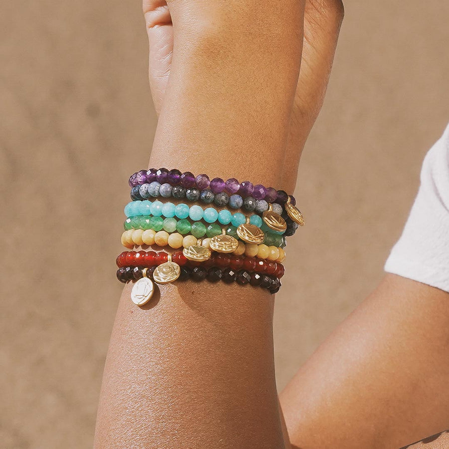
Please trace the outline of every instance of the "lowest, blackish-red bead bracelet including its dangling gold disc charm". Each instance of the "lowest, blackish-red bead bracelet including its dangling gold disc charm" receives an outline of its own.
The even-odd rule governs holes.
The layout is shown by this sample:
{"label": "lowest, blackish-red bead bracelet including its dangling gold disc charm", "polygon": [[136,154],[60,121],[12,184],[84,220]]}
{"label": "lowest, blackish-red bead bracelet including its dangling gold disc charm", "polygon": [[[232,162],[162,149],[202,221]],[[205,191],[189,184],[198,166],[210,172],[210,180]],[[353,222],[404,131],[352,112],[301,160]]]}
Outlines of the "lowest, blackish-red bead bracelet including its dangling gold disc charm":
{"label": "lowest, blackish-red bead bracelet including its dangling gold disc charm", "polygon": [[[151,268],[122,267],[117,270],[117,279],[123,283],[134,279],[137,280],[131,293],[131,299],[139,306],[146,304],[153,296],[154,285],[152,280],[154,280],[154,270],[152,271]],[[182,267],[178,280],[184,281],[187,279],[192,279],[197,282],[202,280],[218,282],[221,280],[226,284],[233,282],[237,282],[240,285],[249,284],[254,287],[265,288],[271,294],[277,293],[281,287],[280,280],[277,277],[255,272],[250,273],[246,270],[234,271],[232,268]]]}

